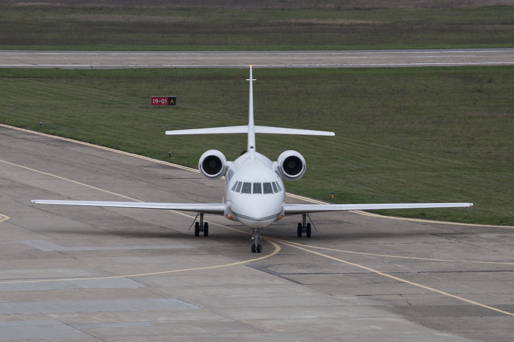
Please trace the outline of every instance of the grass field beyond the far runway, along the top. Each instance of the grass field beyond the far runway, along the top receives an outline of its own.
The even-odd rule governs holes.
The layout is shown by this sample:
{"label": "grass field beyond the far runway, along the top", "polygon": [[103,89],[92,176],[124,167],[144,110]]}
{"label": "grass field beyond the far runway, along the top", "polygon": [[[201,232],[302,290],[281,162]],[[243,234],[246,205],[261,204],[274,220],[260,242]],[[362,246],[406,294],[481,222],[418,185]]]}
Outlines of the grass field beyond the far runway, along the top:
{"label": "grass field beyond the far runway, along the top", "polygon": [[[112,3],[113,1],[111,1]],[[0,49],[353,50],[514,46],[514,7],[0,6]],[[117,3],[117,2],[114,2]],[[323,3],[323,2],[317,2]],[[22,3],[24,4],[24,3]],[[377,2],[377,7],[389,6]],[[486,4],[487,5],[487,4]],[[215,6],[214,6],[215,7]]]}

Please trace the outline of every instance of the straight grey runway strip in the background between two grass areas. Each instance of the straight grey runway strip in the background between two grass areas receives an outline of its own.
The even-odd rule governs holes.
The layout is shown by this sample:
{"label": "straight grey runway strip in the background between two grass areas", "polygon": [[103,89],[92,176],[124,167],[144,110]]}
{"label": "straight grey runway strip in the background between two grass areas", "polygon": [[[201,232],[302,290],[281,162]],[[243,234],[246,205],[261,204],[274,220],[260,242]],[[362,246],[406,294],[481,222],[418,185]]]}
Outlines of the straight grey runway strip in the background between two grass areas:
{"label": "straight grey runway strip in the background between two grass areas", "polygon": [[0,51],[0,68],[362,68],[514,65],[514,49]]}

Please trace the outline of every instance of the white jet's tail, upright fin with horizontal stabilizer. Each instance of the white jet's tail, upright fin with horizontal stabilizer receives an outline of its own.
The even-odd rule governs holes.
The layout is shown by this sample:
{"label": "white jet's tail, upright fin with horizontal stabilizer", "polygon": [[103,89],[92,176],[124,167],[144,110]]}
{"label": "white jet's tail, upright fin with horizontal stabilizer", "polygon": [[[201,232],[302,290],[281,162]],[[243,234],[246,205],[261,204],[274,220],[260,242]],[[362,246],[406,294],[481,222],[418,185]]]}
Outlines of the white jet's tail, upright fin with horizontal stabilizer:
{"label": "white jet's tail, upright fin with horizontal stabilizer", "polygon": [[295,129],[295,128],[282,128],[282,127],[268,127],[268,126],[255,126],[253,120],[253,81],[252,66],[250,65],[250,92],[248,104],[248,125],[246,126],[228,126],[228,127],[213,127],[213,128],[197,128],[197,129],[182,129],[176,131],[166,131],[168,135],[180,134],[229,134],[229,133],[246,133],[248,134],[247,151],[255,152],[255,134],[297,134],[297,135],[335,135],[334,132],[315,131],[308,129]]}

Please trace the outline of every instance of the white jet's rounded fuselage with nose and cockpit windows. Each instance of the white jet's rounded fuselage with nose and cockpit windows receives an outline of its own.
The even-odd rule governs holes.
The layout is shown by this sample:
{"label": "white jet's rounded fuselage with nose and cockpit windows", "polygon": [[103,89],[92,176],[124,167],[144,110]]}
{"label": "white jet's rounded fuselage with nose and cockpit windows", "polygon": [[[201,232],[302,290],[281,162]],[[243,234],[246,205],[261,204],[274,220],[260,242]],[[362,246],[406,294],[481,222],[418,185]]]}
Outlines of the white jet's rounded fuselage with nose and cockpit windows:
{"label": "white jet's rounded fuselage with nose and cockpit windows", "polygon": [[225,174],[225,217],[264,228],[284,217],[285,190],[276,164],[258,152],[238,157]]}

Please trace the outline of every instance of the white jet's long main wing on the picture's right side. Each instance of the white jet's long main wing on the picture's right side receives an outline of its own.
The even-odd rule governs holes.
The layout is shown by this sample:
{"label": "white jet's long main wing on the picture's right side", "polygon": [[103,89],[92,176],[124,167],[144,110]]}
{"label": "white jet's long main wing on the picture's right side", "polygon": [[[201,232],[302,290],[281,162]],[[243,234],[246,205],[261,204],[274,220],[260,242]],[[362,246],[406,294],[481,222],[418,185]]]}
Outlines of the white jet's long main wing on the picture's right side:
{"label": "white jet's long main wing on the picture's right side", "polygon": [[286,204],[284,205],[284,214],[296,215],[343,210],[454,208],[471,207],[472,205],[472,203]]}

